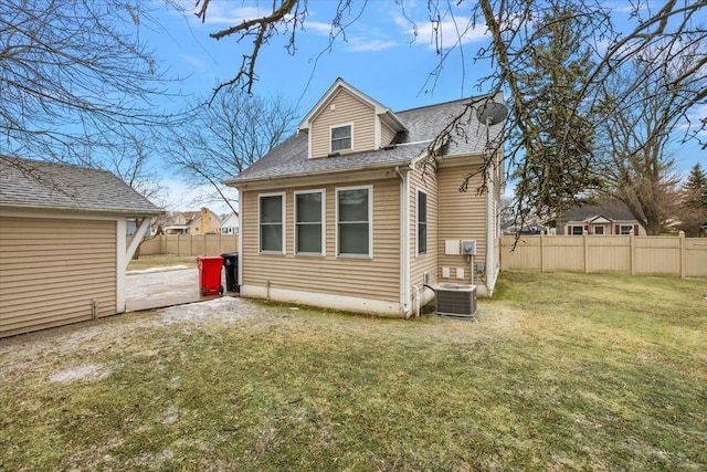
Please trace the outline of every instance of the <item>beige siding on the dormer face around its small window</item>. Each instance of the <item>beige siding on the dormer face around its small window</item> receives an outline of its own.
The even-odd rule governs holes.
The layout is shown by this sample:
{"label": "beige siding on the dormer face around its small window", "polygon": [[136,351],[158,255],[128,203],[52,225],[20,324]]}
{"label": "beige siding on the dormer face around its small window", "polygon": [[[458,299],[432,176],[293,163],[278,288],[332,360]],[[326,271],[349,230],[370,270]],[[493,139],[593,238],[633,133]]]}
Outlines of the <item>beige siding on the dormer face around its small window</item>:
{"label": "beige siding on the dormer face around its small window", "polygon": [[[331,109],[334,106],[334,109]],[[376,112],[350,93],[341,90],[321,108],[314,119],[310,157],[326,157],[331,149],[333,126],[352,125],[354,151],[371,150],[376,146]]]}

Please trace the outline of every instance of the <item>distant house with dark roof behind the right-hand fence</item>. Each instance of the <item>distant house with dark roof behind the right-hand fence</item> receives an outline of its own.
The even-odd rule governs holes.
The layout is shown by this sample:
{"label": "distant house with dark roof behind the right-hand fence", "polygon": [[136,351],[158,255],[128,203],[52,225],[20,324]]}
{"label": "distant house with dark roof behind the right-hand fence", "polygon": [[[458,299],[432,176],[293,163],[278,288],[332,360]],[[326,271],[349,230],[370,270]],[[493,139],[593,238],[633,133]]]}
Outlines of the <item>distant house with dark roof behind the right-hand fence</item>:
{"label": "distant house with dark roof behind the right-hand fence", "polygon": [[646,234],[629,209],[619,203],[573,208],[558,225],[559,234],[582,235],[584,231],[595,235]]}

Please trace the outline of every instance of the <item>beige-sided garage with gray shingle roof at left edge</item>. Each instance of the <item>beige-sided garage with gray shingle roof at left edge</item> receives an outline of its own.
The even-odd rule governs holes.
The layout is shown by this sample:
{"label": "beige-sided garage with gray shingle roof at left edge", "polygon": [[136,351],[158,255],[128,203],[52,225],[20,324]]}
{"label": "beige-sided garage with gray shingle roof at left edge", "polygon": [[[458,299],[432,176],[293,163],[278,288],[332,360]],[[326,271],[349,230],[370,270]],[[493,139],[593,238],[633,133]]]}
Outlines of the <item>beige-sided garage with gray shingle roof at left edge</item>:
{"label": "beige-sided garage with gray shingle roof at left edge", "polygon": [[125,312],[127,264],[161,212],[110,172],[0,156],[0,337]]}

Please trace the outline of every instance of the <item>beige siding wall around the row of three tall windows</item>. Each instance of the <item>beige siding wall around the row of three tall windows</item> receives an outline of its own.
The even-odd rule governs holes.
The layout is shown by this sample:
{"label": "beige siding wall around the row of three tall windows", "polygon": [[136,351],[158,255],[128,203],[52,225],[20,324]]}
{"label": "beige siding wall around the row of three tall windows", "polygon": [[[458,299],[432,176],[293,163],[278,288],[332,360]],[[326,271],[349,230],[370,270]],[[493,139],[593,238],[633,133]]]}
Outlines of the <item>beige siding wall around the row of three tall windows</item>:
{"label": "beige siding wall around the row of three tall windows", "polygon": [[[336,256],[336,189],[372,185],[373,258]],[[399,301],[400,183],[395,179],[286,189],[285,255],[258,254],[257,191],[241,193],[243,284]],[[325,256],[294,253],[294,192],[324,189]]]}

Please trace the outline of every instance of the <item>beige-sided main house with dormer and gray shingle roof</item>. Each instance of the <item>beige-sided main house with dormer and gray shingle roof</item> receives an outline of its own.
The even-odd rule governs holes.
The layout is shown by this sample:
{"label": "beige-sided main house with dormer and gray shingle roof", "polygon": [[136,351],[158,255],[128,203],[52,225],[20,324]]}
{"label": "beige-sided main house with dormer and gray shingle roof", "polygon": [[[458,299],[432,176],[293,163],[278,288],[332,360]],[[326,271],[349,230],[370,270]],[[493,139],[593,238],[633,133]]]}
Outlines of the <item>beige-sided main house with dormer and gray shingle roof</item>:
{"label": "beige-sided main house with dormer and gray shingle roof", "polygon": [[[474,276],[490,296],[504,172],[498,153],[482,180],[489,146],[475,112],[490,99],[392,113],[338,78],[295,135],[226,181],[240,195],[242,295],[393,316],[440,282]],[[460,115],[455,139],[439,143]],[[476,241],[475,258],[462,240]]]}

